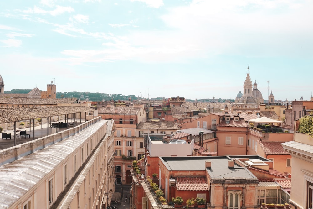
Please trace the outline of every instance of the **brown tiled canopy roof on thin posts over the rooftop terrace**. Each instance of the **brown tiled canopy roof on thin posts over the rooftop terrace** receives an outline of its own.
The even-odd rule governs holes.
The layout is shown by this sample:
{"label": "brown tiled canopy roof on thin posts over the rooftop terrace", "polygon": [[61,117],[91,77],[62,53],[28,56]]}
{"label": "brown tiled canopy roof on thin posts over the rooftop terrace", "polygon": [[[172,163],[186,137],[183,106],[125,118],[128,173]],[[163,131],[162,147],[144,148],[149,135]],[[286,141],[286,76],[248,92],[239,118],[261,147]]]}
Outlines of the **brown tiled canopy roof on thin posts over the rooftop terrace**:
{"label": "brown tiled canopy roof on thin posts over the rooftop terrace", "polygon": [[0,123],[47,118],[58,115],[67,115],[79,112],[94,112],[86,106],[53,106],[53,107],[11,107],[0,108]]}

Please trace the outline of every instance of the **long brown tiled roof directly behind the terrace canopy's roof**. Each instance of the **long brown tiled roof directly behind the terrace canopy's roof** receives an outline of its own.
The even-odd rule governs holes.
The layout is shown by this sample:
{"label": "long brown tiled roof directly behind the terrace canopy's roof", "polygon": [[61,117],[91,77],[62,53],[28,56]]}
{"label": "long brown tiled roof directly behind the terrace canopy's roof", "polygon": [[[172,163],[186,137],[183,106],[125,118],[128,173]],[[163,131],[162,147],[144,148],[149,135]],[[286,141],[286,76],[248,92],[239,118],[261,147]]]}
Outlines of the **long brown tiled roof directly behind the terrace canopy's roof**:
{"label": "long brown tiled roof directly behind the terrace canopy's roof", "polygon": [[0,104],[23,104],[23,105],[57,105],[73,104],[76,98],[66,99],[41,99],[41,98],[0,98]]}

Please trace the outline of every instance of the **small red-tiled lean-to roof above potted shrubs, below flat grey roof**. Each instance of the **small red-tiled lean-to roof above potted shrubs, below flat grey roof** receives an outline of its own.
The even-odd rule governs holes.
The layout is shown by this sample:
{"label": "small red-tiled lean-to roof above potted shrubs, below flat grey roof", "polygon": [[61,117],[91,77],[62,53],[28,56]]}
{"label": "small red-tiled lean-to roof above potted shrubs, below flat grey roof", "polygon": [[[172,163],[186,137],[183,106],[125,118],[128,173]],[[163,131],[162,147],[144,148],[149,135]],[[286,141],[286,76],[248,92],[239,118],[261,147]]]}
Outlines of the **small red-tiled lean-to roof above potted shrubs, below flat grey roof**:
{"label": "small red-tiled lean-to roof above potted shrubs, below flat grey roof", "polygon": [[209,186],[205,177],[177,177],[176,189],[178,191],[208,191]]}

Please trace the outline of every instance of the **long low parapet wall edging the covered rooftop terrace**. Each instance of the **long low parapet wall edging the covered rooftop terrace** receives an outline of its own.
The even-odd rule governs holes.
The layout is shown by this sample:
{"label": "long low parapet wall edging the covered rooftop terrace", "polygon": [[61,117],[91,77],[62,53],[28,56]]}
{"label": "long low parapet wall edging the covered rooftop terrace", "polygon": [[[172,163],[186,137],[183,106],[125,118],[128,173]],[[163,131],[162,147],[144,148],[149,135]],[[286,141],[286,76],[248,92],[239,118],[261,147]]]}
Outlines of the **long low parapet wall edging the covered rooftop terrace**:
{"label": "long low parapet wall edging the covered rooftop terrace", "polygon": [[0,166],[6,163],[13,162],[14,160],[17,160],[25,155],[32,154],[37,150],[44,149],[45,147],[51,144],[55,144],[65,138],[69,138],[70,136],[79,133],[80,131],[91,126],[92,124],[99,122],[100,120],[101,117],[96,117],[73,128],[69,128],[58,133],[50,134],[42,138],[38,138],[23,144],[3,149],[0,151]]}

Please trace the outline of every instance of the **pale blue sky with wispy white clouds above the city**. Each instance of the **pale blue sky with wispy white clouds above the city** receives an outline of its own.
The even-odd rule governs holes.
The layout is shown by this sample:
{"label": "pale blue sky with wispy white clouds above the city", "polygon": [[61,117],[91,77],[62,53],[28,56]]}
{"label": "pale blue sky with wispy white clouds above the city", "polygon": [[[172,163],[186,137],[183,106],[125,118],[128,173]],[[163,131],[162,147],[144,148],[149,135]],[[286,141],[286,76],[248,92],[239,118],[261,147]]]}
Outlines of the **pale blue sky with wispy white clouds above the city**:
{"label": "pale blue sky with wispy white clouds above the city", "polygon": [[[310,0],[0,1],[4,90],[310,100]],[[249,65],[249,71],[247,67]]]}

